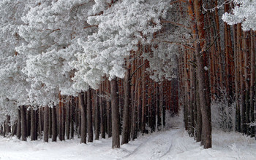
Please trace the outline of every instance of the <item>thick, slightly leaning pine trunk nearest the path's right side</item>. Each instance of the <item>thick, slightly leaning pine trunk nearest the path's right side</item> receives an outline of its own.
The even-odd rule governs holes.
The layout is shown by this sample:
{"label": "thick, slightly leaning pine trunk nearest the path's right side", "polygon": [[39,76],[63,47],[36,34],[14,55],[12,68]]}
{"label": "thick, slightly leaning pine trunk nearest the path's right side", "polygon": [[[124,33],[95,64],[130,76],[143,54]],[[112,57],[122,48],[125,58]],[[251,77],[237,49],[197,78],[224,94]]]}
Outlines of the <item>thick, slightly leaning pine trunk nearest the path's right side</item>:
{"label": "thick, slightly leaning pine trunk nearest the path's right side", "polygon": [[[194,2],[194,7],[192,3]],[[203,133],[203,145],[204,148],[211,148],[211,102],[210,95],[208,92],[208,69],[207,68],[207,58],[205,47],[205,33],[204,33],[204,18],[201,12],[202,1],[189,0],[189,13],[195,13],[195,20],[197,25],[193,25],[192,28],[195,39],[195,57],[197,60],[197,79],[198,79],[198,92],[200,99],[200,110],[202,113],[202,133]],[[198,36],[196,36],[198,35]],[[199,39],[198,39],[199,38]]]}

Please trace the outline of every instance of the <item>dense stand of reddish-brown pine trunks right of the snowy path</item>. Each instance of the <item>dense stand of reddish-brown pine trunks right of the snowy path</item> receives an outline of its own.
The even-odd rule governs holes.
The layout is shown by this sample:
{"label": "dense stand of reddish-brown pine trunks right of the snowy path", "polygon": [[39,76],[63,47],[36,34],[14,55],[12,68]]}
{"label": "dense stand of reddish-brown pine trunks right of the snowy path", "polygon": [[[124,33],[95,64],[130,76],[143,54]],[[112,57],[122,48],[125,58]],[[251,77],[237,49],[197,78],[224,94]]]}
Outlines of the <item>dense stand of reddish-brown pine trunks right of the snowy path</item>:
{"label": "dense stand of reddish-brown pine trunks right of the snowy path", "polygon": [[193,43],[190,49],[178,49],[184,125],[204,148],[211,148],[211,100],[220,105],[219,111],[225,115],[223,129],[255,136],[255,32],[242,31],[241,24],[222,24],[219,9],[230,12],[234,6],[218,6],[219,3],[177,3],[188,8]]}

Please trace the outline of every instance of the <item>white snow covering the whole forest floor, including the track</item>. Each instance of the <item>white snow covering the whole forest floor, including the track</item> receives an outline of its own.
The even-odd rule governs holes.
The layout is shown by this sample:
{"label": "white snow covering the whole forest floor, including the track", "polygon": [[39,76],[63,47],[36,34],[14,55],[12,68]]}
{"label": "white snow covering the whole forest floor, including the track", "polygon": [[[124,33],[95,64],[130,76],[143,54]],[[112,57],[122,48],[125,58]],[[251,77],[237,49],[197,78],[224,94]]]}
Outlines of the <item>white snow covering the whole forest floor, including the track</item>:
{"label": "white snow covering the whole forest floor, including the track", "polygon": [[0,159],[256,159],[256,141],[236,132],[213,132],[213,148],[203,149],[184,129],[168,129],[111,149],[111,138],[80,144],[79,139],[58,143],[22,142],[0,137]]}

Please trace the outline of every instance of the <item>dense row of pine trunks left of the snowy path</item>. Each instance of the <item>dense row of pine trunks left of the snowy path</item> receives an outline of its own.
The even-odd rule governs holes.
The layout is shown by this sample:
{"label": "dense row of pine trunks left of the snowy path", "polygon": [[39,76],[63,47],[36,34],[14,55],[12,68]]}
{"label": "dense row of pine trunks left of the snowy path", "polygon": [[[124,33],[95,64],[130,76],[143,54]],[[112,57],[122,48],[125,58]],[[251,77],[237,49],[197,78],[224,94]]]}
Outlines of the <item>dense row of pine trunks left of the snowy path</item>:
{"label": "dense row of pine trunks left of the snowy path", "polygon": [[[135,65],[133,69],[132,65]],[[59,95],[59,104],[53,107],[20,106],[17,123],[12,124],[12,128],[16,125],[17,129],[11,130],[23,140],[31,135],[31,140],[42,138],[44,142],[50,138],[56,142],[57,137],[67,140],[77,135],[81,143],[87,143],[94,138],[98,140],[99,133],[102,138],[107,134],[113,136],[113,148],[118,148],[134,140],[138,132],[163,129],[165,109],[178,111],[178,99],[173,98],[176,96],[169,89],[173,94],[178,91],[172,81],[165,80],[161,84],[152,81],[146,73],[148,66],[147,61],[135,58],[134,63],[127,61],[124,80],[103,81],[99,89],[81,92],[78,97]]]}

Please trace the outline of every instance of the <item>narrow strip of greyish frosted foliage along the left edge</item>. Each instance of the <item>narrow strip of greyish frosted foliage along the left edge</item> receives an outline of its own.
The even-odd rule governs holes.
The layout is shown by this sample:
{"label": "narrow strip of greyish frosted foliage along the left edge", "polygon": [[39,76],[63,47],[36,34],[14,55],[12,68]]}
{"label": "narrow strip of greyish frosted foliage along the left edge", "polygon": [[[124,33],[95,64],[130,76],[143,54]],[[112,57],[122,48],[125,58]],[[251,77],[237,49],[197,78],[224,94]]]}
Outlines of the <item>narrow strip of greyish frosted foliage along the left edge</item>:
{"label": "narrow strip of greyish frosted foliage along the left edge", "polygon": [[0,123],[5,115],[15,119],[17,107],[28,103],[30,84],[26,81],[26,55],[16,52],[15,47],[26,43],[18,34],[23,25],[21,17],[28,12],[30,1],[0,1]]}

